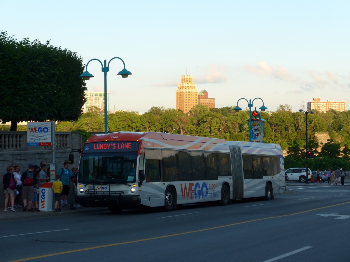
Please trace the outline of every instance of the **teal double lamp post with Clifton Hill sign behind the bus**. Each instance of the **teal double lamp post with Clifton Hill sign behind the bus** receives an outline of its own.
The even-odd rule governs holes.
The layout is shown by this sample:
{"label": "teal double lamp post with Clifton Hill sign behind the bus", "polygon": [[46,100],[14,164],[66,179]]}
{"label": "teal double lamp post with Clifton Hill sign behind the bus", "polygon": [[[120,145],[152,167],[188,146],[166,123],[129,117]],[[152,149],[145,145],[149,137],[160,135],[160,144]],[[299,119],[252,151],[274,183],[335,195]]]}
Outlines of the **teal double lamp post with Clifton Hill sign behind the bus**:
{"label": "teal double lamp post with Clifton Hill sign behind the bus", "polygon": [[[249,108],[249,141],[250,142],[255,142],[255,143],[264,143],[263,142],[263,137],[264,137],[264,121],[265,119],[261,119],[260,117],[260,113],[259,111],[257,111],[257,108],[255,107],[255,109],[252,111],[252,107],[253,107],[253,102],[255,99],[260,99],[262,101],[262,99],[260,97],[256,97],[253,99],[253,101],[251,101],[249,99],[249,102],[247,99],[245,98],[240,98],[237,101],[237,106],[235,108],[233,108],[233,110],[235,110],[236,112],[239,112],[240,110],[242,110],[239,106],[238,106],[238,102],[239,100],[244,99],[245,101],[247,101],[248,103],[248,108]],[[262,112],[264,112],[266,109],[268,109],[267,107],[265,107],[264,105],[264,101],[262,101],[262,106],[259,108]]]}

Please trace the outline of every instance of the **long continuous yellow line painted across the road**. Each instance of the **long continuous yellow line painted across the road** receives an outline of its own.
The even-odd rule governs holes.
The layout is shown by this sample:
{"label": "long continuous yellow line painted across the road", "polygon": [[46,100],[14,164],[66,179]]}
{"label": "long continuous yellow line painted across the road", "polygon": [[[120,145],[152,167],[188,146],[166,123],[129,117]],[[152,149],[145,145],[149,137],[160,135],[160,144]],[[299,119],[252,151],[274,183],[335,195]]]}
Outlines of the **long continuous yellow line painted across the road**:
{"label": "long continuous yellow line painted across the road", "polygon": [[103,246],[87,247],[87,248],[75,249],[75,250],[70,250],[70,251],[65,251],[65,252],[52,253],[52,254],[41,255],[41,256],[34,256],[34,257],[28,257],[28,258],[25,258],[25,259],[13,260],[12,262],[20,262],[20,261],[28,261],[28,260],[33,260],[33,259],[41,259],[43,257],[65,255],[65,254],[70,254],[70,253],[75,253],[75,252],[82,252],[82,251],[93,250],[93,249],[98,249],[98,248],[114,247],[114,246],[126,245],[126,244],[131,244],[131,243],[138,243],[138,242],[144,242],[144,241],[149,241],[149,240],[155,240],[155,239],[169,238],[169,237],[172,237],[172,236],[187,235],[187,234],[192,234],[192,233],[198,233],[198,232],[203,232],[203,231],[214,230],[214,229],[218,229],[218,228],[224,228],[224,227],[229,227],[229,226],[236,226],[236,225],[256,222],[256,221],[260,221],[260,220],[266,220],[266,219],[272,219],[272,218],[281,218],[281,217],[289,217],[289,216],[294,216],[294,215],[298,215],[298,214],[308,213],[308,212],[312,212],[312,211],[320,210],[320,209],[325,209],[325,208],[332,208],[334,206],[345,205],[345,204],[350,204],[350,202],[344,202],[344,203],[334,204],[334,205],[330,205],[330,206],[323,206],[322,208],[314,208],[314,209],[310,209],[310,210],[306,210],[306,211],[300,211],[300,212],[292,213],[292,214],[280,215],[280,216],[275,216],[275,217],[258,218],[258,219],[247,220],[247,221],[242,221],[242,222],[228,224],[228,225],[223,225],[223,226],[203,228],[203,229],[200,229],[200,230],[187,231],[187,232],[182,232],[182,233],[177,233],[177,234],[172,234],[172,235],[155,236],[153,238],[138,239],[138,240],[132,240],[132,241],[127,241],[127,242],[113,243],[113,244],[108,244],[108,245],[103,245]]}

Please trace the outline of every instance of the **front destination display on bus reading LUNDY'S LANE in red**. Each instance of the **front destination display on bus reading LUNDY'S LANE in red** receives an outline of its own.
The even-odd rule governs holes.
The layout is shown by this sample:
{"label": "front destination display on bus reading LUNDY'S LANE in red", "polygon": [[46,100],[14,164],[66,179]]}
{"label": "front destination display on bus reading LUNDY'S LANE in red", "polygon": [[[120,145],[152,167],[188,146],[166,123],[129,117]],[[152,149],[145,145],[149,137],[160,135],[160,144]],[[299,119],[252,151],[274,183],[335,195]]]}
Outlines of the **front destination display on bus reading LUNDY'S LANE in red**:
{"label": "front destination display on bus reading LUNDY'S LANE in red", "polygon": [[95,152],[137,152],[139,142],[130,141],[105,141],[85,144],[84,153]]}

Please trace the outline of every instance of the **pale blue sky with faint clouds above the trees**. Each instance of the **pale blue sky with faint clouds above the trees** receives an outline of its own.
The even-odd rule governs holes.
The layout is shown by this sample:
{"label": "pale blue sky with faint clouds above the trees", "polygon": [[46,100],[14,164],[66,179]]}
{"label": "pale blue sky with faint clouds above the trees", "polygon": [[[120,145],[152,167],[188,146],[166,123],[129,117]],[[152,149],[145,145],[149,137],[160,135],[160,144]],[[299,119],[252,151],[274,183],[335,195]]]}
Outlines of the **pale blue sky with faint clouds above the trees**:
{"label": "pale blue sky with faint clouds above the trees", "polygon": [[[268,110],[308,101],[350,109],[350,1],[7,1],[0,30],[110,63],[110,110],[175,108],[181,75],[192,75],[215,107],[259,97]],[[104,92],[98,61],[87,91]],[[253,107],[261,107],[256,99]],[[247,102],[240,100],[241,108]]]}

